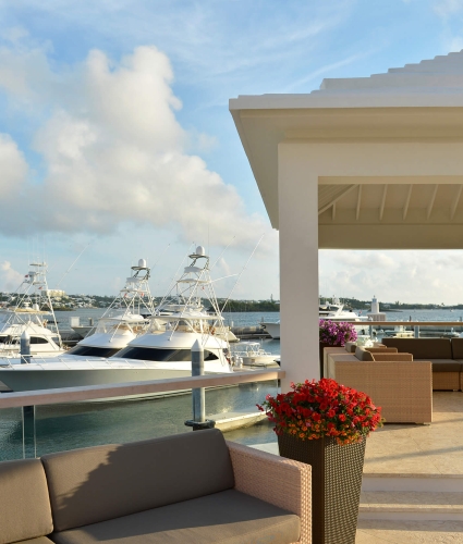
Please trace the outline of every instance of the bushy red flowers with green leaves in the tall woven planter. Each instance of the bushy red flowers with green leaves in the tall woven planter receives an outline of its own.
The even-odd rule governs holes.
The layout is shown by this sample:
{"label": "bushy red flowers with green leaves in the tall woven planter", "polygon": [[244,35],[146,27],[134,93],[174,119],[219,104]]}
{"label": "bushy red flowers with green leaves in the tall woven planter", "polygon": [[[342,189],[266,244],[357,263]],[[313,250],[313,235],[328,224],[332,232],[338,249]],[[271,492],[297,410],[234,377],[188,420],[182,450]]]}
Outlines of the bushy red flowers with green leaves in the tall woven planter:
{"label": "bushy red flowers with green leaves in the tall woven planter", "polygon": [[362,442],[382,426],[381,408],[365,393],[340,385],[334,380],[306,380],[291,384],[289,393],[267,395],[259,410],[275,423],[273,431],[302,441],[334,436],[338,444]]}

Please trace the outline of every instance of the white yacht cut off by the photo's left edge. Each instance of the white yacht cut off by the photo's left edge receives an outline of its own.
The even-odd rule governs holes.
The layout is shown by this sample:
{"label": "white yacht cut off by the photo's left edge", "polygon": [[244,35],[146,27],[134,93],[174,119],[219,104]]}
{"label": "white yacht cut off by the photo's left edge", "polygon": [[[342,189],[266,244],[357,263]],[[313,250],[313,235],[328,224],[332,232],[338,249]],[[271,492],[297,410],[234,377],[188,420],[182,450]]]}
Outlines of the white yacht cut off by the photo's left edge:
{"label": "white yacht cut off by the photo's left edge", "polygon": [[20,363],[21,335],[31,338],[31,355],[64,353],[47,285],[47,263],[33,262],[19,288],[0,307],[0,363]]}

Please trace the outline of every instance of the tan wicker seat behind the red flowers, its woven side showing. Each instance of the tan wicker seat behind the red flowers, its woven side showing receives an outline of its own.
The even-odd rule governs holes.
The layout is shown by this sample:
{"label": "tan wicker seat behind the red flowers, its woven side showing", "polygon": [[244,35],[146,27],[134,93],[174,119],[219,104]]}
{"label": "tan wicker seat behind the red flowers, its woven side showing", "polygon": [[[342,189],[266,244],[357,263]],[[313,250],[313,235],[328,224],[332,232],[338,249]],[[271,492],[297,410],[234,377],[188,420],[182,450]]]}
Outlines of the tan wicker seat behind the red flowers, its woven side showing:
{"label": "tan wicker seat behind the red flowers, its woven side showing", "polygon": [[325,375],[367,393],[382,408],[387,423],[432,421],[432,372],[429,361],[414,361],[397,348],[325,348]]}

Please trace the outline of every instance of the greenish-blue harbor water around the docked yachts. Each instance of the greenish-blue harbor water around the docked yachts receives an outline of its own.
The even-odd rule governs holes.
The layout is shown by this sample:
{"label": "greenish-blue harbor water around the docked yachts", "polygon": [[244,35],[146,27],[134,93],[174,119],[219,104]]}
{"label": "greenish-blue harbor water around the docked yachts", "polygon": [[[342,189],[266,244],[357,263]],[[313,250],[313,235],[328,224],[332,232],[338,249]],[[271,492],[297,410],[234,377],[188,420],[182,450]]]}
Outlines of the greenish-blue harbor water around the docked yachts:
{"label": "greenish-blue harbor water around the docked yachts", "polygon": [[[61,330],[70,330],[69,318],[80,317],[82,324],[88,318],[102,314],[101,309],[80,309],[57,312]],[[257,325],[280,319],[278,312],[224,313],[227,324],[235,326]],[[387,312],[388,321],[459,321],[463,310],[421,310]],[[303,324],[301,325],[303,330]],[[280,354],[280,342],[261,341],[265,350]],[[277,382],[242,384],[206,392],[206,415],[234,410],[257,410],[267,394],[275,395]],[[38,456],[50,452],[86,447],[97,444],[121,443],[192,432],[184,421],[192,418],[191,394],[143,400],[115,400],[107,403],[80,403],[40,406],[35,412],[35,443]],[[0,460],[23,457],[22,409],[0,410]],[[230,431],[227,438],[243,444],[276,442],[271,425],[266,421],[248,429]]]}

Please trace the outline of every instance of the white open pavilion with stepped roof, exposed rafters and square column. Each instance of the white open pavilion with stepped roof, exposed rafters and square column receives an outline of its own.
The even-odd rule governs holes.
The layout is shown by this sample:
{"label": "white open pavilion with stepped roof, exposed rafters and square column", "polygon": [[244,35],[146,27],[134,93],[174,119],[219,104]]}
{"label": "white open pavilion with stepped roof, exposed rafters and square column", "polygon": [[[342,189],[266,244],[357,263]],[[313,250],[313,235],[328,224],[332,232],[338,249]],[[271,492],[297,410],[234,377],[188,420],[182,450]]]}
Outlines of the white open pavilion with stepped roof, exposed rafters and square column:
{"label": "white open pavilion with stepped roof, exposed rafters and square column", "polygon": [[463,248],[463,51],[230,111],[280,231],[287,387],[319,375],[319,248]]}

